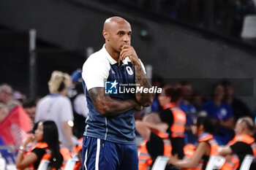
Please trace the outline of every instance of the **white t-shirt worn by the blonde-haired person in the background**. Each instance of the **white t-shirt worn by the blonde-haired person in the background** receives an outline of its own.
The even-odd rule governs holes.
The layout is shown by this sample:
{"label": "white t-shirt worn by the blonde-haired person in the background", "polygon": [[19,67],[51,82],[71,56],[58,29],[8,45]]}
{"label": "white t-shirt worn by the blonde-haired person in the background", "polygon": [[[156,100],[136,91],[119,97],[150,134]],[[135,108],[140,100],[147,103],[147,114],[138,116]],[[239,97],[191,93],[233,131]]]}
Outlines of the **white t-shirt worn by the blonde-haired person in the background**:
{"label": "white t-shirt worn by the blonde-haired person in the background", "polygon": [[74,120],[72,104],[69,98],[61,95],[48,95],[42,98],[37,104],[35,122],[40,120],[53,120],[58,128],[59,141],[68,145],[64,135],[63,123]]}

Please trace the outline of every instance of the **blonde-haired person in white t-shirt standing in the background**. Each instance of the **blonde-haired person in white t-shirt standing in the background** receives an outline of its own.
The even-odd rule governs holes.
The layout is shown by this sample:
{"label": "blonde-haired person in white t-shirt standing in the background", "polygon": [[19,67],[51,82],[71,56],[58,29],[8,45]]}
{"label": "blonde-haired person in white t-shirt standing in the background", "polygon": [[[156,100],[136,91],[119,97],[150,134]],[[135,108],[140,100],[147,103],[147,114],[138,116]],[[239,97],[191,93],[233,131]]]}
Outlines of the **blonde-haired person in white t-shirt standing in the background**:
{"label": "blonde-haired person in white t-shirt standing in the background", "polygon": [[67,98],[67,90],[71,85],[69,74],[54,71],[51,74],[48,87],[50,94],[40,99],[37,104],[35,122],[53,120],[59,131],[59,141],[72,150],[75,139],[72,135],[72,104]]}

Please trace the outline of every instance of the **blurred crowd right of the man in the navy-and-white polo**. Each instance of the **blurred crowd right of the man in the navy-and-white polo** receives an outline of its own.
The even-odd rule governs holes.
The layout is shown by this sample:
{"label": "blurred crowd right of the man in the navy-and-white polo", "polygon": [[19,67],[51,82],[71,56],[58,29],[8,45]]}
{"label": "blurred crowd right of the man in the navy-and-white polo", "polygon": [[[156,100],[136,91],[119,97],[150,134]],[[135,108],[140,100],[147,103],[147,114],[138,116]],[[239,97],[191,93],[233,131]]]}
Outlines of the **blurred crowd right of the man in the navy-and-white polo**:
{"label": "blurred crowd right of the man in the navy-and-white polo", "polygon": [[[148,169],[157,156],[170,157],[166,169],[206,169],[209,157],[222,155],[222,169],[239,169],[246,155],[255,155],[255,115],[227,81],[200,96],[192,85],[162,85],[150,113],[138,112],[136,130],[142,136],[139,169]],[[251,169],[255,169],[252,163]]]}

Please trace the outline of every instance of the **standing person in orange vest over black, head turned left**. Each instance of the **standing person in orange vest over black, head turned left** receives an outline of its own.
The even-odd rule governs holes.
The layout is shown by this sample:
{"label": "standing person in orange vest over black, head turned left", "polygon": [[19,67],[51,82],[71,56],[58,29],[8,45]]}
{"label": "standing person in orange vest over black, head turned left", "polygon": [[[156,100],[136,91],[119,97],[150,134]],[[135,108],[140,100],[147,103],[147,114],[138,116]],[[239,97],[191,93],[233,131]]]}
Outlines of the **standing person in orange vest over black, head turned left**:
{"label": "standing person in orange vest over black, head turned left", "polygon": [[178,107],[178,90],[170,86],[165,86],[162,93],[158,96],[159,104],[162,111],[159,112],[163,123],[168,125],[167,133],[170,134],[170,142],[172,143],[172,155],[178,154],[178,158],[182,159],[184,156],[183,147],[184,131],[186,125],[186,114]]}

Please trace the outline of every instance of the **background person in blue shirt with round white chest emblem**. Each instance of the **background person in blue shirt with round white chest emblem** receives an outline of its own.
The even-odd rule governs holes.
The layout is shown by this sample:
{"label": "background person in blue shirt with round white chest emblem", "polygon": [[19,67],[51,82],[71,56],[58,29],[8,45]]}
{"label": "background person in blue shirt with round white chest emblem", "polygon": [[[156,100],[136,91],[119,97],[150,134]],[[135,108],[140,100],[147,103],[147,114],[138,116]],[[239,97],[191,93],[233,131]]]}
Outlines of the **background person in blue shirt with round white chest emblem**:
{"label": "background person in blue shirt with round white chest emblem", "polygon": [[223,98],[223,85],[214,85],[212,99],[202,106],[202,110],[205,111],[209,117],[219,121],[219,129],[217,130],[217,134],[214,134],[214,138],[219,145],[227,144],[234,136],[233,128],[235,120],[233,112],[228,104],[223,103]]}

